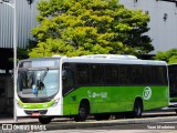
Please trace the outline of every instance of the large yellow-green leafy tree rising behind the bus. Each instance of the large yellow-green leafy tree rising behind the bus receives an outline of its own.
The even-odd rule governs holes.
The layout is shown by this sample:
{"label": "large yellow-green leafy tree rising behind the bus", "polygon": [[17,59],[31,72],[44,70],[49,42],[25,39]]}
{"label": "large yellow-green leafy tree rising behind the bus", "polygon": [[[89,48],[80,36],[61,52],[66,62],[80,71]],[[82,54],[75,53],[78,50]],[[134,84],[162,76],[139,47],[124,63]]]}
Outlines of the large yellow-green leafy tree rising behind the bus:
{"label": "large yellow-green leafy tree rising behind the bus", "polygon": [[145,33],[149,16],[117,0],[48,0],[38,6],[38,40],[30,57],[146,54],[154,50]]}

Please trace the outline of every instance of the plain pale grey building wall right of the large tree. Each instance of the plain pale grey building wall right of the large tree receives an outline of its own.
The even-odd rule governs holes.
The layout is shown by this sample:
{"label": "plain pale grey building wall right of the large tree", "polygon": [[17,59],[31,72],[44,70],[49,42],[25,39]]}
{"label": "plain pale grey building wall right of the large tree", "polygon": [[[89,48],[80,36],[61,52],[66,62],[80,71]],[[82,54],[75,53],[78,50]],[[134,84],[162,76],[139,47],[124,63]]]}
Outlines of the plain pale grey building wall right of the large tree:
{"label": "plain pale grey building wall right of the large tree", "polygon": [[143,10],[150,16],[147,33],[157,51],[177,48],[177,1],[176,0],[118,0],[126,8]]}

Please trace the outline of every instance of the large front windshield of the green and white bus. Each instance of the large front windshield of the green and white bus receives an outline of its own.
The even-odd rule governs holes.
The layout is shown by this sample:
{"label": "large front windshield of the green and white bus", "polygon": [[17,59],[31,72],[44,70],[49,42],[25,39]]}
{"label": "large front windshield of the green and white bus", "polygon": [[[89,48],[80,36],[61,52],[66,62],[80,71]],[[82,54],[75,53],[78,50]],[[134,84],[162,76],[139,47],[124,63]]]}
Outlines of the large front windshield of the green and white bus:
{"label": "large front windshield of the green and white bus", "polygon": [[59,70],[19,70],[18,95],[20,98],[49,98],[59,91]]}

